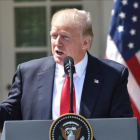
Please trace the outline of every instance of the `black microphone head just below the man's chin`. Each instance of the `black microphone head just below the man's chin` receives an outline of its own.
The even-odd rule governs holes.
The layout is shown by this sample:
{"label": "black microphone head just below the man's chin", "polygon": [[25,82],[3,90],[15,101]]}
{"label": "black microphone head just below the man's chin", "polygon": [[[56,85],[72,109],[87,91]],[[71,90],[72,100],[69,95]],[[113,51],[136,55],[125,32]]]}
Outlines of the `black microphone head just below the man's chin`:
{"label": "black microphone head just below the man's chin", "polygon": [[66,75],[69,75],[69,77],[70,77],[70,74],[75,73],[74,60],[70,56],[67,56],[64,58],[64,71]]}

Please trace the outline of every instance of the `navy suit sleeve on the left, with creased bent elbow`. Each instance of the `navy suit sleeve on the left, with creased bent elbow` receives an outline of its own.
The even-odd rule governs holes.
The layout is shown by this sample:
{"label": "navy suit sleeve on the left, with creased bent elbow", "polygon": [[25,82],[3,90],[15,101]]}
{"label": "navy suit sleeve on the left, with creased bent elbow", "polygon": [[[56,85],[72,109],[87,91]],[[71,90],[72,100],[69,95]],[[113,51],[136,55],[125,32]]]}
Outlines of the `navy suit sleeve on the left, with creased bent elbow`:
{"label": "navy suit sleeve on the left, with creased bent elbow", "polygon": [[13,78],[13,84],[9,92],[9,97],[0,105],[0,129],[2,130],[4,121],[21,120],[21,91],[22,81],[20,73],[20,65]]}

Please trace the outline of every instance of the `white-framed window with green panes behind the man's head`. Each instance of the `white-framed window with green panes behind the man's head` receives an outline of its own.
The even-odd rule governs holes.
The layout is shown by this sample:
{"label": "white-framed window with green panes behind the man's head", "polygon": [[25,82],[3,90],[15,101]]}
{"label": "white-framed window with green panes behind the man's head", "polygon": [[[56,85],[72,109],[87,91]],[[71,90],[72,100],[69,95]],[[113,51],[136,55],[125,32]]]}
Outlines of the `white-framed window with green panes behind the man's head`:
{"label": "white-framed window with green panes behind the man's head", "polygon": [[60,9],[82,9],[81,1],[14,0],[15,68],[20,63],[51,55],[52,15]]}

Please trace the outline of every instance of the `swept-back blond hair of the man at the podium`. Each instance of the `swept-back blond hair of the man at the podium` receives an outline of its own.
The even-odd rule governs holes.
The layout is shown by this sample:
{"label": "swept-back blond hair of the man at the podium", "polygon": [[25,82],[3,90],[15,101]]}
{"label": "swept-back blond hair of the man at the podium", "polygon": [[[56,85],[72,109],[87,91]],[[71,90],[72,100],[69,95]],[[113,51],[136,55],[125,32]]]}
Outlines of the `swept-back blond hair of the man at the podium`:
{"label": "swept-back blond hair of the man at the podium", "polygon": [[65,26],[80,27],[81,34],[83,36],[90,37],[91,42],[89,48],[91,47],[93,40],[93,32],[91,14],[89,12],[86,12],[84,10],[78,10],[75,8],[60,10],[53,15],[51,26],[53,26],[54,23],[57,23],[57,25],[59,23],[62,23],[60,22],[60,20],[63,21],[63,24],[65,24]]}

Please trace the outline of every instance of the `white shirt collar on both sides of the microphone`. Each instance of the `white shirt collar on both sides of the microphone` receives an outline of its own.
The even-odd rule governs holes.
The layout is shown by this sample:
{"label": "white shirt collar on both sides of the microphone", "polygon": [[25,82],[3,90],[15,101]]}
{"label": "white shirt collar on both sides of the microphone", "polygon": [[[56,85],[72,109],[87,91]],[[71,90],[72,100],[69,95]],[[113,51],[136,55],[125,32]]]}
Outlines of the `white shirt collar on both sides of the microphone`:
{"label": "white shirt collar on both sides of the microphone", "polygon": [[[82,75],[84,74],[87,67],[87,62],[88,62],[88,56],[86,53],[84,58],[78,64],[75,65],[75,71],[78,77],[81,78]],[[58,77],[63,77],[65,75],[64,66],[56,63],[55,75]]]}

